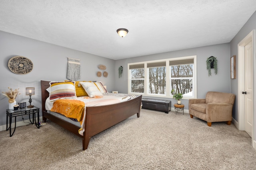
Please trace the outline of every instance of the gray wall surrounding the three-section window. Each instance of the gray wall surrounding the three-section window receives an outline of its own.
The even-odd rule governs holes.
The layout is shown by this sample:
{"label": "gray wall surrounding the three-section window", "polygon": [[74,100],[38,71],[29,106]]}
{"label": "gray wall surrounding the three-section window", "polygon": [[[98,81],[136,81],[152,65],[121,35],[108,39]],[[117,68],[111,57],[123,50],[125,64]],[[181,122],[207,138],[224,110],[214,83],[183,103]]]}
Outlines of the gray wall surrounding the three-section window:
{"label": "gray wall surrounding the three-section window", "polygon": [[[197,56],[197,98],[205,98],[206,92],[208,91],[230,92],[229,43],[116,60],[115,90],[122,93],[128,92],[128,63],[185,57],[191,55]],[[218,59],[218,74],[215,75],[214,70],[212,70],[212,76],[209,77],[208,71],[206,70],[206,59],[210,56],[217,57]],[[118,78],[118,68],[120,66],[123,66],[123,74],[121,78]],[[145,98],[153,97],[147,96]],[[166,98],[163,99],[166,100]],[[168,98],[167,100],[171,100],[172,105],[176,103],[175,99]],[[188,109],[188,100],[182,99],[182,103],[185,104],[184,108]]]}

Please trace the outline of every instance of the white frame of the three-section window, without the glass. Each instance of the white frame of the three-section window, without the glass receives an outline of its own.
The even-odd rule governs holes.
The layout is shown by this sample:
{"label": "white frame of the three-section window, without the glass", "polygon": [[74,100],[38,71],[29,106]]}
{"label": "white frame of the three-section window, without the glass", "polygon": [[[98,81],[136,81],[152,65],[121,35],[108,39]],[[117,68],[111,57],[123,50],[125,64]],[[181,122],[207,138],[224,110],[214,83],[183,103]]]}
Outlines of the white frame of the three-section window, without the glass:
{"label": "white frame of the three-section window, without the glass", "polygon": [[[163,59],[163,60],[154,60],[154,61],[145,61],[145,62],[139,62],[139,63],[128,63],[128,94],[142,94],[143,96],[152,96],[152,97],[160,97],[160,98],[173,98],[173,95],[171,94],[170,89],[170,82],[171,82],[171,74],[170,74],[170,61],[177,61],[177,60],[185,60],[185,59],[194,59],[194,69],[193,69],[193,95],[192,96],[183,96],[182,99],[190,99],[190,98],[197,98],[197,84],[196,84],[196,55],[193,56],[186,56],[186,57],[177,57],[177,58],[171,58],[171,59]],[[166,62],[166,94],[149,94],[148,93],[148,63],[159,63],[159,62]],[[135,93],[131,92],[131,70],[130,65],[136,65],[136,64],[144,64],[144,93]],[[182,78],[184,79],[184,78]]]}

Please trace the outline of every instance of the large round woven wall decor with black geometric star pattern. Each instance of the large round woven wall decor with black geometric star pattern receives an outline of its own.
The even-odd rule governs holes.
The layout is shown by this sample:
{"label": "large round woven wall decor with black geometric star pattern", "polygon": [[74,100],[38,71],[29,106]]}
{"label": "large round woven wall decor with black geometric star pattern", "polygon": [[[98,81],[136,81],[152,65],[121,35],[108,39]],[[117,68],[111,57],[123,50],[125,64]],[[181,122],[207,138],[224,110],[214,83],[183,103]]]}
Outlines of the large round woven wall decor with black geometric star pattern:
{"label": "large round woven wall decor with black geometric star pattern", "polygon": [[30,59],[22,56],[15,56],[9,60],[8,67],[15,74],[27,74],[33,69]]}

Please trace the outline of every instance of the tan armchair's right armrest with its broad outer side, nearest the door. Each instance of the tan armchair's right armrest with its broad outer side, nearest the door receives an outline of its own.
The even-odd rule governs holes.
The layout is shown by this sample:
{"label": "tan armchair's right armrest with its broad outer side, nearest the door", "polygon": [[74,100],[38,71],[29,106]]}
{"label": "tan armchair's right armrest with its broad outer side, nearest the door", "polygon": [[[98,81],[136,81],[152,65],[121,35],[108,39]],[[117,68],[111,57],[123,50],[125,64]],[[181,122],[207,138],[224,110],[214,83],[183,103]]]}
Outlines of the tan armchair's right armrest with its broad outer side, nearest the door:
{"label": "tan armchair's right armrest with its broad outer side, nearest the door", "polygon": [[206,104],[206,121],[231,121],[232,108],[233,105],[228,103],[208,103]]}

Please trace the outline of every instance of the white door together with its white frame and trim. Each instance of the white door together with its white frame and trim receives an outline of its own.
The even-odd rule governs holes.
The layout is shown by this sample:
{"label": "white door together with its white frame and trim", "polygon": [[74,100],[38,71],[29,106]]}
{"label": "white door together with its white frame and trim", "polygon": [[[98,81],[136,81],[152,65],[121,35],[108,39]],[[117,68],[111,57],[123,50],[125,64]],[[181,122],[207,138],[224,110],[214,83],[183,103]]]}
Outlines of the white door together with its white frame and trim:
{"label": "white door together with its white frame and trim", "polygon": [[[254,30],[238,43],[238,129],[254,143]],[[231,80],[232,81],[232,80]],[[246,93],[245,93],[246,92]]]}

